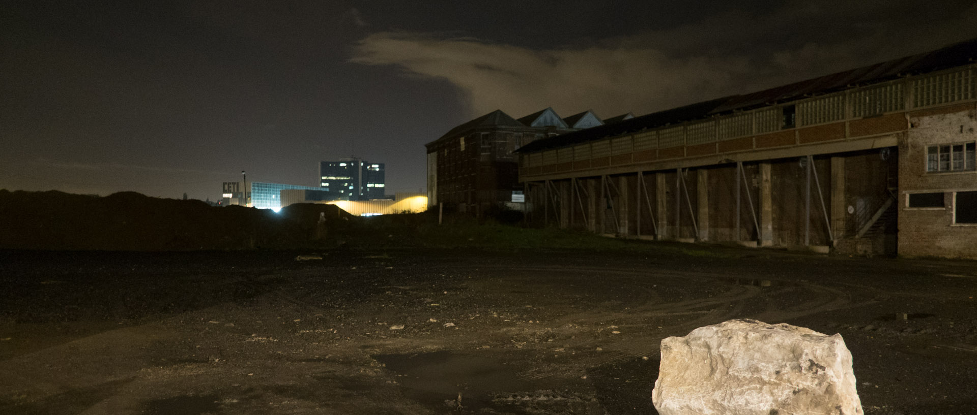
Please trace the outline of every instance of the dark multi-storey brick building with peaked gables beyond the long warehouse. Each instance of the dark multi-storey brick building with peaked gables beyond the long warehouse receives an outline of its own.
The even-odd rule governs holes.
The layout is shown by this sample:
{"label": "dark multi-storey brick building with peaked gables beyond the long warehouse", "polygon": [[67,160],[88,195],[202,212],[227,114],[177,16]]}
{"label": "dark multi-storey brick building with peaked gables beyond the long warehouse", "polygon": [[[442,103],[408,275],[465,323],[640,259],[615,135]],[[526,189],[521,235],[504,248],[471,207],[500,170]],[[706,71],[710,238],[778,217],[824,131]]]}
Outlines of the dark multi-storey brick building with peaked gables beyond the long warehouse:
{"label": "dark multi-storey brick building with peaked gables beyond the long warehouse", "polygon": [[519,120],[495,110],[455,127],[426,144],[429,204],[481,215],[511,203],[514,195],[523,192],[514,154],[517,148],[547,136],[602,125],[604,121],[592,111],[560,118],[546,108]]}

